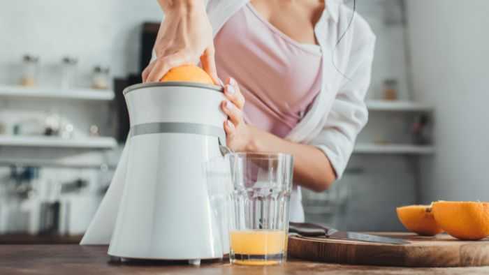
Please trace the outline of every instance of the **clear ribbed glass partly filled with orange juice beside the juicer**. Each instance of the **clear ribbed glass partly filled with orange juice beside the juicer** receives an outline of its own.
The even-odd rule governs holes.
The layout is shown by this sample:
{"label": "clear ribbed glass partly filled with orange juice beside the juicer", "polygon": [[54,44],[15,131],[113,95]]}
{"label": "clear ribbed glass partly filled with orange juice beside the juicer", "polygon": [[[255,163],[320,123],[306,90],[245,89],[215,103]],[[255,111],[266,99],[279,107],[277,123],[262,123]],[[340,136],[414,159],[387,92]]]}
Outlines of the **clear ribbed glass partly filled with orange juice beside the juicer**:
{"label": "clear ribbed glass partly filled with orange juice beside the juicer", "polygon": [[279,265],[286,260],[293,158],[236,153],[231,165],[229,258],[236,265]]}

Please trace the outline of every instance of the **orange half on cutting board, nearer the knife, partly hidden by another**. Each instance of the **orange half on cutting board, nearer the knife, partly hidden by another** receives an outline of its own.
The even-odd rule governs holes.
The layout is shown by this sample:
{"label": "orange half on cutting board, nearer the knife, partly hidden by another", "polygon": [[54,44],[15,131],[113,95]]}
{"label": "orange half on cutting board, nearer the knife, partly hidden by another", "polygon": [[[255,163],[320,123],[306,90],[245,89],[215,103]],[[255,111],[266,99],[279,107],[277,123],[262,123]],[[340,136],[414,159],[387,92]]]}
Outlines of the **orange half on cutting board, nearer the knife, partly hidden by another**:
{"label": "orange half on cutting board, nearer the knife, partly hidden by another", "polygon": [[431,205],[397,207],[397,217],[407,230],[423,236],[435,236],[443,230],[435,221]]}

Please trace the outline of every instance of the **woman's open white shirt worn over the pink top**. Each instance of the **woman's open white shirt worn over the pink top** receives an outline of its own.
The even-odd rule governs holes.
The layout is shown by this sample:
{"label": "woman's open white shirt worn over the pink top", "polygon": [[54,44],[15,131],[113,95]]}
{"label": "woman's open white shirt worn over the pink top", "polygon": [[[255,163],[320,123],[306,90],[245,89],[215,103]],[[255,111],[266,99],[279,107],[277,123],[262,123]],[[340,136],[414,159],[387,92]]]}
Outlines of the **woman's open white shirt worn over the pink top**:
{"label": "woman's open white shirt worn over the pink top", "polygon": [[[207,15],[214,36],[249,0],[209,0]],[[358,13],[341,0],[326,0],[326,8],[314,27],[323,53],[321,91],[311,109],[285,138],[312,144],[326,154],[338,179],[349,161],[356,136],[368,119],[365,94],[370,86],[375,36]],[[291,194],[291,221],[304,221],[300,188]]]}

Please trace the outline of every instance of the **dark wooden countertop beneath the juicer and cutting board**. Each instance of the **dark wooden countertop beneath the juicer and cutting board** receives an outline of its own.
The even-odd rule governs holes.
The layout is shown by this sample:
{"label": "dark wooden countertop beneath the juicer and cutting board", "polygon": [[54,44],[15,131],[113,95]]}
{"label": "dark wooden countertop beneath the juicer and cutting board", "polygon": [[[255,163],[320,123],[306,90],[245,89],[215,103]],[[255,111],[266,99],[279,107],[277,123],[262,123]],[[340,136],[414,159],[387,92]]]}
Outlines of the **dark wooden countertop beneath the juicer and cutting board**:
{"label": "dark wooden countertop beneath the juicer and cutting board", "polygon": [[227,262],[141,261],[113,263],[107,246],[0,245],[0,274],[489,274],[489,267],[404,268],[333,265],[289,260],[282,266],[244,267]]}

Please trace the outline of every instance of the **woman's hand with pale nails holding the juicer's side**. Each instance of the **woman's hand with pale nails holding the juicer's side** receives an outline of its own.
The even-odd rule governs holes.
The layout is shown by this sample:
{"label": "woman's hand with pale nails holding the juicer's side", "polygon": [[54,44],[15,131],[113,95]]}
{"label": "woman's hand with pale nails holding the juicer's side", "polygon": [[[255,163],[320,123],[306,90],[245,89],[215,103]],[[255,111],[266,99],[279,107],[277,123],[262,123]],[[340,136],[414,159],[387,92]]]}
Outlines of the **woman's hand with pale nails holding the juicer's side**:
{"label": "woman's hand with pale nails holding the juicer's side", "polygon": [[226,101],[221,103],[221,108],[228,119],[224,121],[226,131],[226,144],[233,151],[249,151],[252,141],[252,128],[243,119],[243,107],[245,97],[241,94],[240,87],[234,78],[228,78],[224,85]]}

